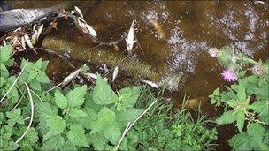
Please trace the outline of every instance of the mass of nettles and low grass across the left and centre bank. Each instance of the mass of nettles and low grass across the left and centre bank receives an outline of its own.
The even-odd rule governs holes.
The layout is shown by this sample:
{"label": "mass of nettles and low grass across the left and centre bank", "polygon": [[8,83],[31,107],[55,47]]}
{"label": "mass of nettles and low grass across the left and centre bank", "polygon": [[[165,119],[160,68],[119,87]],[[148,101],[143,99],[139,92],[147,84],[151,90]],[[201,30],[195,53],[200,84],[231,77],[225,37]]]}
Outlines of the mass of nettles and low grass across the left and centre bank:
{"label": "mass of nettles and low grass across the left and centre bank", "polygon": [[[0,51],[3,150],[112,150],[119,144],[120,150],[208,149],[216,139],[216,130],[205,128],[204,118],[195,122],[186,110],[170,115],[172,104],[158,102],[135,124],[156,98],[142,87],[115,92],[100,75],[91,89],[83,85],[46,92],[51,86],[47,61],[22,59],[15,77],[11,47]],[[135,128],[123,137],[131,122]]]}

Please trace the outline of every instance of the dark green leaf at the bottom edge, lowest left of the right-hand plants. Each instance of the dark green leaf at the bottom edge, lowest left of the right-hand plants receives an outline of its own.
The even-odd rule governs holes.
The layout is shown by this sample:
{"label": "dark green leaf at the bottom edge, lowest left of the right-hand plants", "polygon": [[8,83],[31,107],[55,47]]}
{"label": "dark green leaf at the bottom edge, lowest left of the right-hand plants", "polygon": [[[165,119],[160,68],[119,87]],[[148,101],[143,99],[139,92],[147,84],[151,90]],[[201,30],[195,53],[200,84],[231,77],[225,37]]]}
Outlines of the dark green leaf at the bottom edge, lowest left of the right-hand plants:
{"label": "dark green leaf at the bottom edge, lowest left of the right-hand plants", "polygon": [[229,140],[229,145],[233,147],[234,150],[252,150],[253,147],[250,145],[251,138],[247,132],[238,133]]}

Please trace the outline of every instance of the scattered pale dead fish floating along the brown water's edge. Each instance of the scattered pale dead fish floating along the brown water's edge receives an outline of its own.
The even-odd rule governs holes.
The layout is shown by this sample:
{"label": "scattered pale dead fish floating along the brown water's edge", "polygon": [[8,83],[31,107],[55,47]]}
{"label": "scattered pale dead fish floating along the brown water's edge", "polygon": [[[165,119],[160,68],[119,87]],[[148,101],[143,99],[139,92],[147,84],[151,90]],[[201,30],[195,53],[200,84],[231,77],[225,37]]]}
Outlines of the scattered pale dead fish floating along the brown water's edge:
{"label": "scattered pale dead fish floating along the brown water's edge", "polygon": [[[79,16],[76,16],[76,22],[78,26],[81,28],[81,31],[84,34],[89,34],[92,37],[96,38],[96,30],[88,25],[88,23],[85,21],[82,11],[79,7],[74,6],[74,11],[71,11],[71,15],[78,14]],[[15,29],[12,33],[14,33],[14,36],[8,36],[3,40],[4,46],[7,42],[12,43],[12,47],[17,50],[23,50],[27,48],[34,48],[34,45],[36,42],[38,42],[40,35],[42,34],[42,31],[44,29],[43,24],[38,26],[36,24],[32,27],[32,33],[30,34],[16,34],[16,33],[24,33],[21,32],[22,28],[19,27]],[[7,42],[6,42],[7,41]],[[125,38],[125,41],[127,43],[127,52],[129,54],[132,54],[134,44],[136,42],[135,40],[135,21],[133,20],[131,23],[131,26],[127,32],[127,37]],[[84,64],[85,65],[85,64]],[[74,79],[78,77],[78,75],[82,72],[82,67],[75,70],[74,72],[71,72],[58,86],[60,87],[66,87],[68,86]],[[111,82],[114,82],[115,79],[118,77],[119,74],[119,67],[116,66],[113,70]],[[91,72],[82,72],[82,75],[86,76],[88,79],[97,79],[97,74],[91,73]],[[108,80],[105,78],[105,80]],[[150,85],[150,87],[159,88],[158,84],[150,81],[150,80],[144,80],[141,79],[141,81],[147,85]]]}

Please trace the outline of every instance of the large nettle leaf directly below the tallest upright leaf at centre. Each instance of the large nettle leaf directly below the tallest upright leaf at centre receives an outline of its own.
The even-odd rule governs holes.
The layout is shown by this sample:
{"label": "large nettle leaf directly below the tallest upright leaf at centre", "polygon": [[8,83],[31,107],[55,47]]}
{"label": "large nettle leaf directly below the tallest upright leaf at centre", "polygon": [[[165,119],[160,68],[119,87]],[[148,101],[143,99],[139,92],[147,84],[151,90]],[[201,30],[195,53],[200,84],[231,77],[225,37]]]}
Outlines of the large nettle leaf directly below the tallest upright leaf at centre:
{"label": "large nettle leaf directly below the tallest upright leaf at centre", "polygon": [[115,112],[111,109],[103,107],[97,115],[96,121],[93,123],[92,132],[104,132],[115,122]]}

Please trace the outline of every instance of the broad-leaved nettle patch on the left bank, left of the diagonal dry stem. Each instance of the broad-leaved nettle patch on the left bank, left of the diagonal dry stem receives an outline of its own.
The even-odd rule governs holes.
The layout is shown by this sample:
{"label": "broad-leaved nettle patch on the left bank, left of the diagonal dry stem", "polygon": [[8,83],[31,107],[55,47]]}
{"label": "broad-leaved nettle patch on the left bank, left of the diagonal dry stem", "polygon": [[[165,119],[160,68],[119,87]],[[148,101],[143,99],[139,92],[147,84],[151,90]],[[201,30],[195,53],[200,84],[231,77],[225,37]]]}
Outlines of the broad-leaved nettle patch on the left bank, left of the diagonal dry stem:
{"label": "broad-leaved nettle patch on the left bank, left of the diagonal dry stem", "polygon": [[[111,149],[127,123],[142,113],[134,108],[141,87],[115,93],[98,76],[91,91],[84,85],[46,93],[46,84],[51,85],[45,74],[48,62],[39,59],[34,64],[23,59],[16,78],[7,69],[12,65],[11,52],[9,45],[1,48],[1,149]],[[33,99],[34,116],[30,114],[34,106],[30,109],[26,102]]]}

